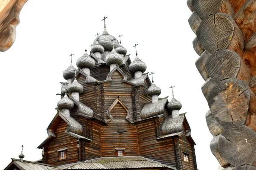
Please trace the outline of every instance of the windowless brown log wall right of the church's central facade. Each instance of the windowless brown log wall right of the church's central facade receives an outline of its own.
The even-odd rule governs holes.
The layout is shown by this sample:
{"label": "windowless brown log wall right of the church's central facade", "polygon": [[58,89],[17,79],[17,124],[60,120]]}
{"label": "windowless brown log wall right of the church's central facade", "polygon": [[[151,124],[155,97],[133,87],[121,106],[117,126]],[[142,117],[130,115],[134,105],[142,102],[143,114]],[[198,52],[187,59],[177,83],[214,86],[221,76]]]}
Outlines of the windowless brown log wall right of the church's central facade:
{"label": "windowless brown log wall right of the church's central facade", "polygon": [[140,156],[176,167],[173,139],[157,140],[154,119],[136,123]]}

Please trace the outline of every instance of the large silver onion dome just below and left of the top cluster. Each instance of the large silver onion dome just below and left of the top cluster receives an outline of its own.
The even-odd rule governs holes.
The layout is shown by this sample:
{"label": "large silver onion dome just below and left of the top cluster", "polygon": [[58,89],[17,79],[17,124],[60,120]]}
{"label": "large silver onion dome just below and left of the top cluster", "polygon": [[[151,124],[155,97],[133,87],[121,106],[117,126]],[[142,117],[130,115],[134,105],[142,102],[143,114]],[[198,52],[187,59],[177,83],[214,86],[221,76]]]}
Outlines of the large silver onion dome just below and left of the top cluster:
{"label": "large silver onion dome just below and left of the top cluster", "polygon": [[90,70],[94,68],[95,61],[87,54],[87,50],[85,50],[84,55],[77,59],[76,66],[90,76]]}

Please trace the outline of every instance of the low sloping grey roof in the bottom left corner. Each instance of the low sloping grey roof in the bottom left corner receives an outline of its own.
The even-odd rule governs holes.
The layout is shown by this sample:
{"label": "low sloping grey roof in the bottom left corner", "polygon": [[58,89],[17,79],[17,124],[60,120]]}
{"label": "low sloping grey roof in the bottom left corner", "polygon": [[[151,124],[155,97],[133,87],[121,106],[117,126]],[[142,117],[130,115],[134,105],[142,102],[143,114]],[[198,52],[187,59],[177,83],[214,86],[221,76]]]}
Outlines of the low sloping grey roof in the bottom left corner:
{"label": "low sloping grey roof in the bottom left corner", "polygon": [[54,165],[50,164],[43,164],[39,162],[32,162],[32,161],[23,161],[21,162],[20,159],[12,159],[12,162],[4,169],[4,170],[12,170],[13,166],[18,167],[20,170],[51,170],[53,169]]}

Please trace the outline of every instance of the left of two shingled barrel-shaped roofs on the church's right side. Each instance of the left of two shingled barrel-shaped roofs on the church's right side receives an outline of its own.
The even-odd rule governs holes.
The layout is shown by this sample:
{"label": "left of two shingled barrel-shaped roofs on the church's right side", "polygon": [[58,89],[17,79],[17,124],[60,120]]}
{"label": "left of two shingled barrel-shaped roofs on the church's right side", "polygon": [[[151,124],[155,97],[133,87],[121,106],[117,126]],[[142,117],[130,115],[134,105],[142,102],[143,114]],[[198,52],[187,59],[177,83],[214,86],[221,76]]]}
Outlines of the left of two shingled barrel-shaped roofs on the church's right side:
{"label": "left of two shingled barrel-shaped roofs on the church's right side", "polygon": [[144,105],[141,110],[141,119],[151,118],[153,116],[159,116],[165,113],[165,105],[167,102],[167,97],[159,99],[156,103],[148,102]]}

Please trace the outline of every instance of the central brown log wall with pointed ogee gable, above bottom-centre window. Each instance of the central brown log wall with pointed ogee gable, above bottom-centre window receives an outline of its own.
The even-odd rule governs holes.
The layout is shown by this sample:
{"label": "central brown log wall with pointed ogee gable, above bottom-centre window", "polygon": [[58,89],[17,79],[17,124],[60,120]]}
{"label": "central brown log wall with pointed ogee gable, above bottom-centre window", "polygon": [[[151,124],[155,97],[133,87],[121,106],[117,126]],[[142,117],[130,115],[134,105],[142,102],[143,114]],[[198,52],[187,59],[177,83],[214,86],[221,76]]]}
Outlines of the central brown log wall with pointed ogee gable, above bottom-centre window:
{"label": "central brown log wall with pointed ogee gable, above bottom-centre window", "polygon": [[[125,119],[127,112],[119,102],[111,115],[113,119],[101,128],[102,156],[116,156],[115,148],[125,148],[125,156],[139,156],[136,126]],[[127,132],[118,133],[118,130]]]}

